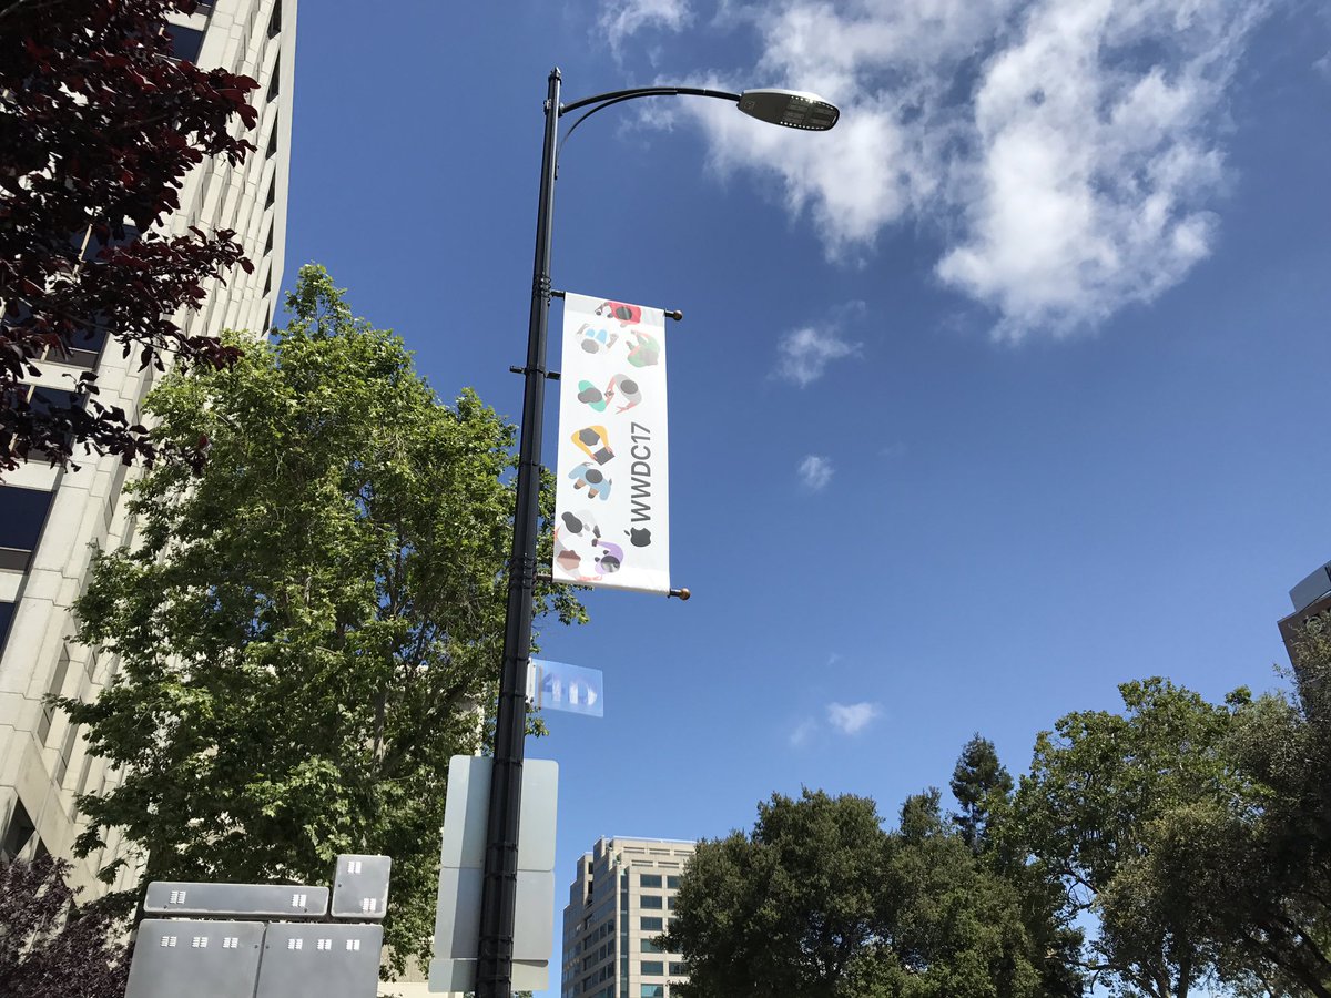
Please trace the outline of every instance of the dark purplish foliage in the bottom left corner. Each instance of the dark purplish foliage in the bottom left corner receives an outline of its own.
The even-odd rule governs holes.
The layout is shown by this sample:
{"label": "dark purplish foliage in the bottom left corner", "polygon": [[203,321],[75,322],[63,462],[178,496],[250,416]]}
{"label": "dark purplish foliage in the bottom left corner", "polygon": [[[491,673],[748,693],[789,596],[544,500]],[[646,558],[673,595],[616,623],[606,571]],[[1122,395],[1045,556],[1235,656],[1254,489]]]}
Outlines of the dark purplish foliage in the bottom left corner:
{"label": "dark purplish foliage in the bottom left corner", "polygon": [[0,994],[121,998],[129,954],[106,908],[75,904],[69,864],[0,865]]}

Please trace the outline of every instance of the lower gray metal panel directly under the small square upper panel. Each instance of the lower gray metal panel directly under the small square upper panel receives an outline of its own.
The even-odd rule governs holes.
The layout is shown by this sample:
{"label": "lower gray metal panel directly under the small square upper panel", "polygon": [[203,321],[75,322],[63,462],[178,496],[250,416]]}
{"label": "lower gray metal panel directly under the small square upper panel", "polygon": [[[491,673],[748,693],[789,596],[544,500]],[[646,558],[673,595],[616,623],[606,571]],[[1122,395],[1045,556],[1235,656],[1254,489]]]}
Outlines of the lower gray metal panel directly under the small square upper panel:
{"label": "lower gray metal panel directly under the small square upper panel", "polygon": [[274,922],[254,998],[373,998],[382,947],[379,925]]}

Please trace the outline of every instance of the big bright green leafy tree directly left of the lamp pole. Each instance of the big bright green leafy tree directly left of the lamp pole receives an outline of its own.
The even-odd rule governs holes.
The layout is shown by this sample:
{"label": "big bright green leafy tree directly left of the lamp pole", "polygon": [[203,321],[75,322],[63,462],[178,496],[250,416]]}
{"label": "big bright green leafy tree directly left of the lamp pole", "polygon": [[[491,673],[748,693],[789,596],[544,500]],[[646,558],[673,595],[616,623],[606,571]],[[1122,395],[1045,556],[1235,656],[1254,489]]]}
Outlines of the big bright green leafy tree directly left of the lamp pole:
{"label": "big bright green leafy tree directly left of the lamp pole", "polygon": [[[482,744],[498,684],[514,431],[470,390],[443,405],[322,267],[287,309],[148,399],[158,439],[209,459],[133,487],[136,542],[79,600],[120,672],[64,707],[124,778],[80,800],[77,850],[117,828],[144,882],[319,884],[338,853],[387,854],[401,961],[431,935],[449,757]],[[536,603],[582,619],[548,585]]]}

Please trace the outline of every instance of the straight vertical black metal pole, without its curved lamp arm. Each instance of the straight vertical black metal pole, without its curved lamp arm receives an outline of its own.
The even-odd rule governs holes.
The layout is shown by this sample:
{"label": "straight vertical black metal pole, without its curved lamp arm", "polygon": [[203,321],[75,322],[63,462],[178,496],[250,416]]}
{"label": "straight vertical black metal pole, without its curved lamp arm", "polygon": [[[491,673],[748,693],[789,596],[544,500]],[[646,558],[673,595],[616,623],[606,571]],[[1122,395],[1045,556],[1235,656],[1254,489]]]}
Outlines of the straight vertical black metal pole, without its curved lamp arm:
{"label": "straight vertical black metal pole, without its curved lamp arm", "polygon": [[508,609],[503,632],[503,675],[495,717],[494,770],[480,888],[476,998],[512,997],[512,926],[518,898],[518,822],[522,758],[527,733],[527,661],[536,576],[540,499],[540,434],[546,403],[546,327],[550,318],[550,249],[555,214],[555,138],[559,133],[559,69],[550,71],[546,144],[540,154],[536,258],[531,278],[527,366],[523,369],[522,436],[518,444],[518,503],[508,559]]}

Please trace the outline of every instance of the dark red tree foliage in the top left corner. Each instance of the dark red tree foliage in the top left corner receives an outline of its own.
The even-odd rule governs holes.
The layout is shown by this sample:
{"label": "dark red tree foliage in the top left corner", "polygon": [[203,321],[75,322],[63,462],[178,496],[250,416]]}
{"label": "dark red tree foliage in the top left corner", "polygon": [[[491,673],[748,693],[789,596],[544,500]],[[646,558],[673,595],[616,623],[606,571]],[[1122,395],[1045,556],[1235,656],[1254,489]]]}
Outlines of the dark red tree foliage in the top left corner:
{"label": "dark red tree foliage in the top left corner", "polygon": [[[68,405],[29,405],[25,377],[109,330],[125,354],[162,366],[225,366],[234,345],[186,335],[201,282],[250,270],[234,233],[150,232],[180,208],[208,156],[240,162],[254,80],[168,59],[168,13],[193,0],[8,0],[0,4],[0,471],[33,451],[69,463],[80,443],[152,459],[157,444],[96,399],[84,374]],[[145,233],[130,238],[133,232]],[[193,456],[193,447],[185,454]]]}

